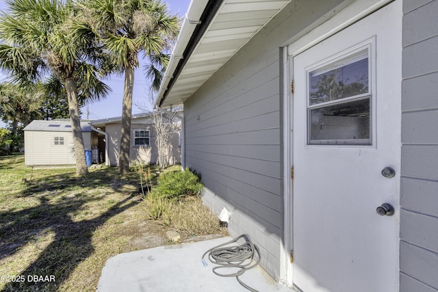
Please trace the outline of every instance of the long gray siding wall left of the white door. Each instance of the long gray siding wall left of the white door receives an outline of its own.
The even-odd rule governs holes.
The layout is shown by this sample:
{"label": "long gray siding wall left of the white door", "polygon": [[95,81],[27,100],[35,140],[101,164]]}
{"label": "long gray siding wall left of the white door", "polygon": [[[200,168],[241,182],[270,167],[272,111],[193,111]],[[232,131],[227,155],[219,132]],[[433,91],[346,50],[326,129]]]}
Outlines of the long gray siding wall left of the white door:
{"label": "long gray siding wall left of the white door", "polygon": [[[281,45],[341,1],[292,1],[184,103],[185,164],[201,173],[204,202],[231,211],[279,279],[283,238]],[[214,44],[212,44],[214,45]]]}

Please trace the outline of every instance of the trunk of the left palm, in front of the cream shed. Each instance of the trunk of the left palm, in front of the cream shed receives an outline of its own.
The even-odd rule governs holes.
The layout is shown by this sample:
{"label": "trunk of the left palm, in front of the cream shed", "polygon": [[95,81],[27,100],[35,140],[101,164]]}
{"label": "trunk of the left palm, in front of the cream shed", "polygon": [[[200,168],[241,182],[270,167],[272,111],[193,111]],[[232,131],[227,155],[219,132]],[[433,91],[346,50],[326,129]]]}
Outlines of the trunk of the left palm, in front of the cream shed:
{"label": "trunk of the left palm, in front of the cream shed", "polygon": [[85,148],[83,147],[76,81],[73,78],[66,78],[65,82],[68,98],[68,111],[70,113],[71,131],[73,135],[73,147],[75,148],[76,174],[86,174],[88,172],[88,168],[85,158]]}

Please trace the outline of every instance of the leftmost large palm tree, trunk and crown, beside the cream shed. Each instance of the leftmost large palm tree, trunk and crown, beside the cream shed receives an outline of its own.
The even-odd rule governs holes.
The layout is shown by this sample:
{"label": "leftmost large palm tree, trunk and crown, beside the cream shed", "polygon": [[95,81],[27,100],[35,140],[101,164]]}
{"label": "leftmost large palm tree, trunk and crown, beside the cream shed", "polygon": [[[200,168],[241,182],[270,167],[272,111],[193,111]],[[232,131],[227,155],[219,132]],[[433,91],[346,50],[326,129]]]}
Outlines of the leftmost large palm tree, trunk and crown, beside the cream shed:
{"label": "leftmost large palm tree, trunk and crown, beside the cream shed", "polygon": [[0,68],[16,82],[36,81],[49,72],[66,88],[73,132],[76,173],[88,172],[79,116],[78,84],[103,98],[109,88],[99,80],[99,57],[92,34],[75,29],[76,10],[69,0],[10,0],[0,15]]}

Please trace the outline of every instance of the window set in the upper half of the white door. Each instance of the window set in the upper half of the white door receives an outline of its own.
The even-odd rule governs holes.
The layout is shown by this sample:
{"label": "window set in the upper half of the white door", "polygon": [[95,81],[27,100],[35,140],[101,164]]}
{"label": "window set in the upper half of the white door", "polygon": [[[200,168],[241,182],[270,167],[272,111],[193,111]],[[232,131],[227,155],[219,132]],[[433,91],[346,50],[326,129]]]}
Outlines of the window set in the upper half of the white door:
{"label": "window set in the upper half of the white door", "polygon": [[370,46],[307,71],[309,145],[372,145]]}

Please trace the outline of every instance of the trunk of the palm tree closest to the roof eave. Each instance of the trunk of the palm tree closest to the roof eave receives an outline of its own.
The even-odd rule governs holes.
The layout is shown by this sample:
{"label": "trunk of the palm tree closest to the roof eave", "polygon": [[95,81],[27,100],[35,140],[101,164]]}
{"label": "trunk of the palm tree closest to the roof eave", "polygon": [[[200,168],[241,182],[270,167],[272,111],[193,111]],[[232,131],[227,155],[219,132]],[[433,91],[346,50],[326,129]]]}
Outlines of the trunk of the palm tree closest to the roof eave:
{"label": "trunk of the palm tree closest to the roof eave", "polygon": [[125,89],[123,90],[122,131],[120,132],[120,156],[118,171],[121,174],[129,170],[129,150],[131,148],[132,92],[134,87],[134,68],[125,68]]}

